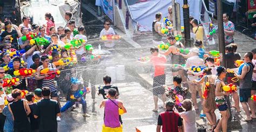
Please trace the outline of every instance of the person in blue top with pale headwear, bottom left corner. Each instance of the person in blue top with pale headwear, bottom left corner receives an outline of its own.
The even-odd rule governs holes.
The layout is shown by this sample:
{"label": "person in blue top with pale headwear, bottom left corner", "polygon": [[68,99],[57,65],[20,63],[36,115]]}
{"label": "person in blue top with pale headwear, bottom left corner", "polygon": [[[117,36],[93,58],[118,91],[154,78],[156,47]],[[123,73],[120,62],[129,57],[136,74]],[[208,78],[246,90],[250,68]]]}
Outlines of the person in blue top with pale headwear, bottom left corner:
{"label": "person in blue top with pale headwear, bottom left corner", "polygon": [[[12,98],[11,94],[8,94],[7,101],[8,104],[14,101],[14,98]],[[14,119],[12,118],[12,114],[9,111],[8,105],[4,106],[3,115],[6,116],[4,122],[4,131],[14,131]]]}

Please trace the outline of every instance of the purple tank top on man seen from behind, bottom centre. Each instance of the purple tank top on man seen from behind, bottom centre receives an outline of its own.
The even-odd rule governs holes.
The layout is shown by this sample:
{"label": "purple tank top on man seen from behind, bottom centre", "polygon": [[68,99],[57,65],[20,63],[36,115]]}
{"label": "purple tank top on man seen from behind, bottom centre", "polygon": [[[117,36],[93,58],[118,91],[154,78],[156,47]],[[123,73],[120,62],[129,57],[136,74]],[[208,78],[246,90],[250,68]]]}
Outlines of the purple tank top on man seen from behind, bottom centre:
{"label": "purple tank top on man seen from behind, bottom centre", "polygon": [[[116,103],[116,104],[114,104]],[[119,112],[118,112],[118,100],[113,99],[113,100],[107,99],[105,102],[105,120],[104,124],[106,127],[110,128],[116,128],[120,127],[120,121],[119,121]]]}

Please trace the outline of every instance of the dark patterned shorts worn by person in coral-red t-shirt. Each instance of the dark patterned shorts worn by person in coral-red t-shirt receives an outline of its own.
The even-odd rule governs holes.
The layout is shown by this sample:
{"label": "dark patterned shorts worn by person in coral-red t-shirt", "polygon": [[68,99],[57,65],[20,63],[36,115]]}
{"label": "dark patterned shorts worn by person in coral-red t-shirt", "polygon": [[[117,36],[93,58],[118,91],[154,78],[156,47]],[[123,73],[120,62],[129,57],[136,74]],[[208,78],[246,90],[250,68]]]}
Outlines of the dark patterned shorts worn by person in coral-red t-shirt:
{"label": "dark patterned shorts worn by person in coral-red t-shirt", "polygon": [[165,93],[165,89],[163,85],[165,85],[165,74],[154,77],[153,79],[153,95],[154,96]]}

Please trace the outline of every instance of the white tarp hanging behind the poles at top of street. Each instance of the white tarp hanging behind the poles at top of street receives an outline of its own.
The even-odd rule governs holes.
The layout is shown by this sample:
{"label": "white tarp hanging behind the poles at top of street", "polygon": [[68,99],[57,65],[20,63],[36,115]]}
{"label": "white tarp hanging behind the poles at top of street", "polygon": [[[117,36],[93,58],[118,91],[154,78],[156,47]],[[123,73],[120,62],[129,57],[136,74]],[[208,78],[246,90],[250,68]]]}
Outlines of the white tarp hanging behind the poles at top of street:
{"label": "white tarp hanging behind the poles at top of street", "polygon": [[[181,26],[183,26],[183,0],[176,0],[180,4],[180,18]],[[190,16],[193,16],[195,19],[200,18],[199,12],[199,3],[200,0],[188,0],[190,5]],[[171,4],[170,1],[166,0],[149,0],[147,2],[140,2],[130,6],[131,14],[134,20],[138,21],[140,31],[152,31],[152,22],[155,19],[155,14],[161,12],[163,17],[166,17],[168,14],[167,8]]]}

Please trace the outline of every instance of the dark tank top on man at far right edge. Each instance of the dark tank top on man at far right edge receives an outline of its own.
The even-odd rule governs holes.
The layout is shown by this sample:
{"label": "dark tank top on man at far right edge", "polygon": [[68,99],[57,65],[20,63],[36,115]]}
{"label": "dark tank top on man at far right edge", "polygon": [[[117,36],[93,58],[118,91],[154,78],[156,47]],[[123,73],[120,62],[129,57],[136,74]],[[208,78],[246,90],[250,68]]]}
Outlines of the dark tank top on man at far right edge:
{"label": "dark tank top on man at far right edge", "polygon": [[252,89],[251,81],[252,81],[252,74],[253,74],[254,66],[251,62],[245,63],[245,66],[247,66],[247,70],[249,69],[249,71],[246,73],[244,79],[239,80],[239,86],[240,86],[240,89],[251,90]]}

